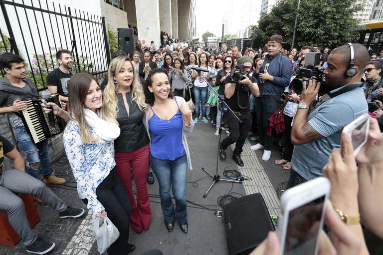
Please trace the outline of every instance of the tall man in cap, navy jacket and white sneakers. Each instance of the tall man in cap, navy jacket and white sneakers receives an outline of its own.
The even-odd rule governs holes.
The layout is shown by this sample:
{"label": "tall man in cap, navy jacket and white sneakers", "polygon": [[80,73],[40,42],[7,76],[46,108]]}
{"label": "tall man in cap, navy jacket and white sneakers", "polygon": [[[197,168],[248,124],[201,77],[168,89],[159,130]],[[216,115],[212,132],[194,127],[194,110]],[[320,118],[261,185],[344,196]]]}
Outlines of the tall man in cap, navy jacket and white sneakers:
{"label": "tall man in cap, navy jacket and white sneakers", "polygon": [[290,83],[292,75],[291,61],[280,52],[282,49],[282,36],[274,34],[270,37],[268,54],[263,60],[257,62],[255,77],[258,79],[260,98],[256,100],[255,115],[258,123],[259,142],[250,148],[252,150],[262,150],[262,160],[267,161],[271,156],[271,145],[273,137],[267,135],[269,128],[269,118],[278,109],[282,92]]}

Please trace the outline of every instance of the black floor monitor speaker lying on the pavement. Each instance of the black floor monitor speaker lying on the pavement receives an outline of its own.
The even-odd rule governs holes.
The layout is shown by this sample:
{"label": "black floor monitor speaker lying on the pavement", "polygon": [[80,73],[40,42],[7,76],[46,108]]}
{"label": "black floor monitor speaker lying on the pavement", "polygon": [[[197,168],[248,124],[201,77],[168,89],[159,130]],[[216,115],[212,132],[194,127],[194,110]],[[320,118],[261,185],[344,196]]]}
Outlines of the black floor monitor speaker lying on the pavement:
{"label": "black floor monitor speaker lying on the pavement", "polygon": [[260,193],[232,201],[224,207],[229,255],[248,255],[275,231]]}

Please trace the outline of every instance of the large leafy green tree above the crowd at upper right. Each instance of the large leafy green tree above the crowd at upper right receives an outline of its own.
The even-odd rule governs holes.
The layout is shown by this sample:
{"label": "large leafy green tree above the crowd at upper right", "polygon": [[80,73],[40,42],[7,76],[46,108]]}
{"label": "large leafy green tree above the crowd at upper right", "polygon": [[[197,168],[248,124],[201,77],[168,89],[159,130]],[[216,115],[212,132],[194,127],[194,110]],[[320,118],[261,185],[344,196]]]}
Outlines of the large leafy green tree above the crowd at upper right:
{"label": "large leafy green tree above the crowd at upper right", "polygon": [[[294,33],[298,0],[281,0],[269,14],[261,13],[254,44],[263,47],[273,34],[280,34],[290,46]],[[294,47],[318,45],[335,48],[358,39],[360,28],[354,12],[360,10],[355,0],[302,0],[298,10]]]}

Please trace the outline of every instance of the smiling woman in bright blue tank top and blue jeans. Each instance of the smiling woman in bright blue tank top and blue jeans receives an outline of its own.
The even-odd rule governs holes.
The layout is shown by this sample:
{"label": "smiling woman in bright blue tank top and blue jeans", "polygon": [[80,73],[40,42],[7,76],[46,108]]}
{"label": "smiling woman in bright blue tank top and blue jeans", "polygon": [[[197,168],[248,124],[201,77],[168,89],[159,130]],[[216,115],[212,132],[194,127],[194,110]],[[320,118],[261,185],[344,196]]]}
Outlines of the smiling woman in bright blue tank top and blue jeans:
{"label": "smiling woman in bright blue tank top and blue jeans", "polygon": [[[192,132],[192,112],[182,97],[171,92],[168,75],[163,69],[150,72],[144,86],[146,103],[145,125],[151,139],[150,166],[160,185],[161,208],[165,226],[173,231],[177,219],[181,230],[188,233],[186,217],[186,170],[192,169],[185,133]],[[170,195],[176,198],[174,208]]]}

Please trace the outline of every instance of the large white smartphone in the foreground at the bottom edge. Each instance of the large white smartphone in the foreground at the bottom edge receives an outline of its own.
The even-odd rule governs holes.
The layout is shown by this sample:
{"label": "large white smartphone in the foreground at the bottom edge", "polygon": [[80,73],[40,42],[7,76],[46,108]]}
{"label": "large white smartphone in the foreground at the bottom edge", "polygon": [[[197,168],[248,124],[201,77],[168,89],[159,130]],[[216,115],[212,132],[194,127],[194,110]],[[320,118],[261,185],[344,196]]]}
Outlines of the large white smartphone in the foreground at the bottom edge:
{"label": "large white smartphone in the foreground at the bottom edge", "polygon": [[277,227],[281,255],[318,253],[330,189],[329,179],[318,177],[283,193]]}

